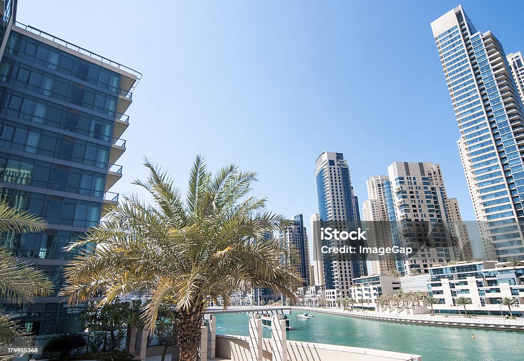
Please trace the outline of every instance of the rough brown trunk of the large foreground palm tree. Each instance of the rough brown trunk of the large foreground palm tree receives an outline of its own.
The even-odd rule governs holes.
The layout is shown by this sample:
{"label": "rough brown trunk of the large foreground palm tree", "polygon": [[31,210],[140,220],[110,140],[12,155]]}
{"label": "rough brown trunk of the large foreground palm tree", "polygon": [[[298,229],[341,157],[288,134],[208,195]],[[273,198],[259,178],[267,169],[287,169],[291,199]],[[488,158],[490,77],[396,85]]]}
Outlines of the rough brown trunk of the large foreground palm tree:
{"label": "rough brown trunk of the large foreground palm tree", "polygon": [[183,310],[180,314],[178,330],[178,345],[180,347],[180,361],[195,361],[201,342],[203,310]]}

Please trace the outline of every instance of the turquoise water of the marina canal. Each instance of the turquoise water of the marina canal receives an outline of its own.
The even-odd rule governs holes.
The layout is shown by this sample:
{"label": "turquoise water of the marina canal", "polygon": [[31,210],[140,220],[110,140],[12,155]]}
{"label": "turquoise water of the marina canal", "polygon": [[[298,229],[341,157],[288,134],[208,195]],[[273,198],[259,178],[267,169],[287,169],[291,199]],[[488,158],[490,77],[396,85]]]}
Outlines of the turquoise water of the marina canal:
{"label": "turquoise water of the marina canal", "polygon": [[[300,320],[293,311],[288,340],[422,355],[422,361],[524,361],[524,332],[412,325],[323,313]],[[247,336],[247,314],[217,314],[216,333]],[[475,339],[471,333],[475,333]],[[270,337],[264,329],[263,337]]]}

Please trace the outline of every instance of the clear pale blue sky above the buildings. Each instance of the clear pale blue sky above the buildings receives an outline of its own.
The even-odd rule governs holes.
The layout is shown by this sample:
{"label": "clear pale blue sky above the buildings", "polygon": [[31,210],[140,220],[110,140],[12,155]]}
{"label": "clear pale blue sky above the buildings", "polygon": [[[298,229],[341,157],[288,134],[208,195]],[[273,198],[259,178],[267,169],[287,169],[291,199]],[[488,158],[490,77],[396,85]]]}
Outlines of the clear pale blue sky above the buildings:
{"label": "clear pale blue sky above the buildings", "polygon": [[[318,211],[315,159],[343,152],[359,200],[393,161],[442,165],[474,220],[430,23],[457,2],[19,1],[17,19],[144,74],[126,112],[124,177],[148,156],[182,190],[196,154],[259,172],[255,193],[289,217]],[[462,2],[507,53],[524,50],[524,2]],[[424,135],[422,135],[424,134]]]}

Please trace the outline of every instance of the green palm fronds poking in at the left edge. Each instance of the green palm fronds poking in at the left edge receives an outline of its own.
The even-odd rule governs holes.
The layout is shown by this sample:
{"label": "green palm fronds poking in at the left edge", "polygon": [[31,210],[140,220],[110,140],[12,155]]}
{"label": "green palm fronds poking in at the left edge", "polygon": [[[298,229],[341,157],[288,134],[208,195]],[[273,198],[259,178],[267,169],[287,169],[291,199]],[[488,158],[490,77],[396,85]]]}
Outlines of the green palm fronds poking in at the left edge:
{"label": "green palm fronds poking in at the left edge", "polygon": [[[46,227],[47,223],[41,218],[16,210],[0,200],[0,233],[37,233]],[[30,304],[36,297],[48,296],[52,287],[45,273],[20,262],[9,248],[0,246],[0,297],[5,303]],[[27,347],[28,340],[24,336],[17,322],[0,309],[0,346]]]}

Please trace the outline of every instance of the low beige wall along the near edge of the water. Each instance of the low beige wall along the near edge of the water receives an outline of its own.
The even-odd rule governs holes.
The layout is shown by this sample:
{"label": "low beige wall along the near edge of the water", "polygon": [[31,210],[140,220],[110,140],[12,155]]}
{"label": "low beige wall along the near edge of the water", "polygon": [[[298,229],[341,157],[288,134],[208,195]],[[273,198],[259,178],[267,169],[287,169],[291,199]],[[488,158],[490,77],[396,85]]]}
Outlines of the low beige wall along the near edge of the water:
{"label": "low beige wall along the near edge of the water", "polygon": [[[248,337],[216,335],[216,357],[250,361]],[[272,361],[270,340],[263,339],[263,361]],[[312,342],[287,341],[288,361],[422,361],[422,356],[398,352],[380,351],[371,348],[319,344]]]}

